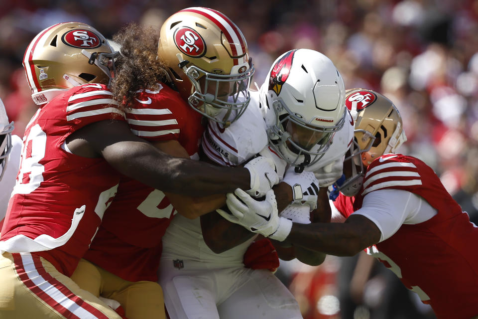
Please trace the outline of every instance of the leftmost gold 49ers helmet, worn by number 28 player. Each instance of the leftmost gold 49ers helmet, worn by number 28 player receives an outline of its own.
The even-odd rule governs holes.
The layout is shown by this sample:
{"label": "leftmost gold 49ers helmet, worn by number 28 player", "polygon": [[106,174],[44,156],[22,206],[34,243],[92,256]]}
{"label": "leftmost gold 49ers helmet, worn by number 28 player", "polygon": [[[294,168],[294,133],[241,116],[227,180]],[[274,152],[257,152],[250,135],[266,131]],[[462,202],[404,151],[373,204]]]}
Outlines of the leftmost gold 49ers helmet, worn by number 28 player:
{"label": "leftmost gold 49ers helmet, worn by number 28 player", "polygon": [[95,28],[80,22],[52,25],[35,36],[23,67],[37,105],[85,83],[109,84],[115,53]]}

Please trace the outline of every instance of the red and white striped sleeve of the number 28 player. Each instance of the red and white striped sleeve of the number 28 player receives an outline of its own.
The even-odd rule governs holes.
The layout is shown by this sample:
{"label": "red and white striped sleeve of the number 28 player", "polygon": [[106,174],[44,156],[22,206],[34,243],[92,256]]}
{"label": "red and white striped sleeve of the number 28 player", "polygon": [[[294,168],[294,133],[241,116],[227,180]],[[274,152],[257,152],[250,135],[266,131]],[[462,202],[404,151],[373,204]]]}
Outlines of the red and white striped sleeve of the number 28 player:
{"label": "red and white striped sleeve of the number 28 player", "polygon": [[66,120],[78,129],[103,120],[122,120],[124,113],[102,84],[84,84],[68,98]]}

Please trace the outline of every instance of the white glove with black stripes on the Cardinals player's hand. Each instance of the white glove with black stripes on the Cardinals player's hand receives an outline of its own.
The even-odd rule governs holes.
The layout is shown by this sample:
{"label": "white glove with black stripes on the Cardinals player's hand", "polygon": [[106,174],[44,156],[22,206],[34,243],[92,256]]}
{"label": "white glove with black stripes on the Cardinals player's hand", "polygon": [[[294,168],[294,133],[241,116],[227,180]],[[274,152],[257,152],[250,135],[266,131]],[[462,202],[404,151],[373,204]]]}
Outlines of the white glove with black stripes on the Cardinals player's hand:
{"label": "white glove with black stripes on the Cardinals player's hand", "polygon": [[307,204],[311,211],[317,208],[319,181],[313,172],[303,171],[296,173],[294,167],[291,166],[285,172],[282,181],[292,187],[292,195],[294,198],[292,203]]}

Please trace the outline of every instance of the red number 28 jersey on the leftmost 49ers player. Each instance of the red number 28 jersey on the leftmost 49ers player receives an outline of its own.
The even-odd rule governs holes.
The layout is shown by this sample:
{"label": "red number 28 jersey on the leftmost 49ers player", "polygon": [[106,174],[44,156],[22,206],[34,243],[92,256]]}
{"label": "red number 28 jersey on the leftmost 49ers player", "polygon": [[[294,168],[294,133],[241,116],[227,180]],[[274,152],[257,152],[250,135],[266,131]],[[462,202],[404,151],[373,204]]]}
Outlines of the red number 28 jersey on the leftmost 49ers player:
{"label": "red number 28 jersey on the leftmost 49ers player", "polygon": [[61,273],[73,273],[117,192],[120,174],[103,158],[73,155],[63,144],[78,129],[111,119],[125,120],[100,84],[72,88],[40,106],[23,137],[0,250],[36,252]]}

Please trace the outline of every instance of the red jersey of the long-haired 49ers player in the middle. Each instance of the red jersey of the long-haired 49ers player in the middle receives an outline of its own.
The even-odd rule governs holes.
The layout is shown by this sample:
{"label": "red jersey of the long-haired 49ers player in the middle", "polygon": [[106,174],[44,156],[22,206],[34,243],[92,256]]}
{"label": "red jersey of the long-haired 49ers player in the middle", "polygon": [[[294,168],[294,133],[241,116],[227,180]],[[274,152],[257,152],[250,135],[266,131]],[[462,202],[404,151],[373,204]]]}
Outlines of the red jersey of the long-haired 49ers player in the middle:
{"label": "red jersey of the long-haired 49ers player in the middle", "polygon": [[[177,140],[190,156],[204,131],[201,117],[166,85],[138,92],[126,112],[134,134],[150,142]],[[175,213],[162,191],[122,178],[85,258],[128,281],[157,281],[161,238]]]}

